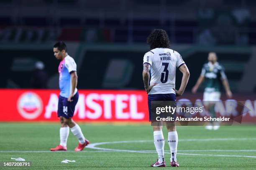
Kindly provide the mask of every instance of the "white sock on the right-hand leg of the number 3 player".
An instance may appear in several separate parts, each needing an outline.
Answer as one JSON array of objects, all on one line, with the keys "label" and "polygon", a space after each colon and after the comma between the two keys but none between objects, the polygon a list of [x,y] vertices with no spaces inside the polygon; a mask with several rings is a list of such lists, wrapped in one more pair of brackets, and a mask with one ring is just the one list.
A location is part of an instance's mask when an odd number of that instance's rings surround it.
[{"label": "white sock on the right-hand leg of the number 3 player", "polygon": [[176,154],[177,154],[177,146],[178,146],[178,134],[177,131],[169,132],[168,133],[168,144],[171,151],[171,162],[177,161]]}]

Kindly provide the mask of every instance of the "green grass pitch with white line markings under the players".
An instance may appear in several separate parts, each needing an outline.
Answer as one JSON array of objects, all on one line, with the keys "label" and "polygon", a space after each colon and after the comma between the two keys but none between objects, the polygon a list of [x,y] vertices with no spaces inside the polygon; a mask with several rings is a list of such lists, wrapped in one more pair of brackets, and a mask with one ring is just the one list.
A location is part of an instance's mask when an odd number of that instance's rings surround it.
[{"label": "green grass pitch with white line markings under the players", "polygon": [[[24,158],[31,163],[28,169],[51,170],[143,170],[157,158],[150,124],[85,124],[79,123],[85,137],[97,149],[85,148],[74,152],[78,140],[70,132],[68,152],[50,152],[59,144],[58,123],[0,123],[0,162]],[[167,131],[164,127],[164,137]],[[222,126],[209,131],[202,126],[178,126],[177,160],[179,169],[255,169],[256,126]],[[141,140],[144,140],[142,142]],[[114,141],[128,141],[116,142]],[[131,142],[135,141],[135,142]],[[99,149],[99,148],[105,148]],[[166,168],[169,165],[169,145],[165,143]],[[62,160],[75,163],[61,163]],[[0,167],[0,169],[27,169]]]}]

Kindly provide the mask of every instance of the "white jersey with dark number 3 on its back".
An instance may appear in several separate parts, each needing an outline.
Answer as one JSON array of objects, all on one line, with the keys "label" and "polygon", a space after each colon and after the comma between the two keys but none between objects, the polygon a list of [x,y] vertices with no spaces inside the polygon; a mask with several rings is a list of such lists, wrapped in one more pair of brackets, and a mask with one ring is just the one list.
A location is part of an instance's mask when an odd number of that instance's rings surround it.
[{"label": "white jersey with dark number 3 on its back", "polygon": [[143,64],[151,65],[149,85],[155,85],[148,93],[169,94],[175,91],[176,67],[184,65],[181,55],[169,48],[155,48],[144,55]]}]

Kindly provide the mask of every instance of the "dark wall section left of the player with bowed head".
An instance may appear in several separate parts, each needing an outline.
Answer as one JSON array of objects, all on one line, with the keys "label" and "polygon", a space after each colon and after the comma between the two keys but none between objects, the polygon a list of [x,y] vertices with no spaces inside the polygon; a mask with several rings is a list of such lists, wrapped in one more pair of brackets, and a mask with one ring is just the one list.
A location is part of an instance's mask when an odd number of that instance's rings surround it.
[{"label": "dark wall section left of the player with bowed head", "polygon": [[[1,49],[1,67],[3,69],[0,87],[5,88],[9,84],[17,85],[20,88],[31,88],[31,77],[33,75],[34,64],[40,60],[44,62],[45,71],[48,75],[58,72],[58,61],[49,50],[14,50]],[[57,82],[58,83],[58,82]]]}]

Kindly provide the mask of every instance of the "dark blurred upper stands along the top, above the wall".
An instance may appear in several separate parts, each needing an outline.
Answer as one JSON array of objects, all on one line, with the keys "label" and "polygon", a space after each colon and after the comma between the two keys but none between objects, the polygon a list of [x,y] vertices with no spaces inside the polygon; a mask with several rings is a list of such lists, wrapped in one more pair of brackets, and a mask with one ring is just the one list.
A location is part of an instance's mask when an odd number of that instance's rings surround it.
[{"label": "dark blurred upper stands along the top, above the wall", "polygon": [[145,42],[153,28],[175,44],[256,43],[254,0],[1,0],[0,42]]}]

